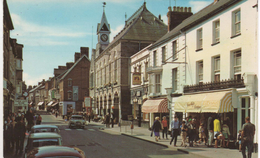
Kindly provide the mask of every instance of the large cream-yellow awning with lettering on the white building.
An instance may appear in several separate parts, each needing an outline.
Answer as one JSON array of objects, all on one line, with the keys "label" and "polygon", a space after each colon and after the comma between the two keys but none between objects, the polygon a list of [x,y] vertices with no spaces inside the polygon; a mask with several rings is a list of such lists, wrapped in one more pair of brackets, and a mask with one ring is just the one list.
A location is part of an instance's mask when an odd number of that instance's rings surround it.
[{"label": "large cream-yellow awning with lettering on the white building", "polygon": [[224,113],[233,112],[232,92],[213,92],[179,97],[174,104],[175,112]]}]

